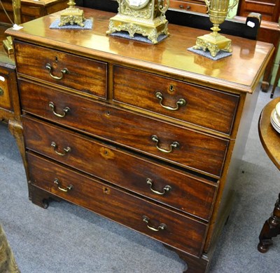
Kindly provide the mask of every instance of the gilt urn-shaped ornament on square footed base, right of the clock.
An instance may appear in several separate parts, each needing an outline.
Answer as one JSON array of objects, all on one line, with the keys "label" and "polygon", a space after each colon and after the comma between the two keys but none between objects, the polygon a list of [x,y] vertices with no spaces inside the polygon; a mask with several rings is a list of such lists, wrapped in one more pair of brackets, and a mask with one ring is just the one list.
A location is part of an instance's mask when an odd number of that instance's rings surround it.
[{"label": "gilt urn-shaped ornament on square footed base, right of the clock", "polygon": [[208,7],[210,21],[213,23],[213,27],[211,27],[213,32],[197,37],[193,48],[203,51],[208,49],[212,57],[215,57],[219,51],[232,52],[232,41],[218,32],[221,30],[219,25],[225,21],[228,11],[237,4],[237,0],[232,6],[229,6],[229,0],[205,0],[205,3]]}]

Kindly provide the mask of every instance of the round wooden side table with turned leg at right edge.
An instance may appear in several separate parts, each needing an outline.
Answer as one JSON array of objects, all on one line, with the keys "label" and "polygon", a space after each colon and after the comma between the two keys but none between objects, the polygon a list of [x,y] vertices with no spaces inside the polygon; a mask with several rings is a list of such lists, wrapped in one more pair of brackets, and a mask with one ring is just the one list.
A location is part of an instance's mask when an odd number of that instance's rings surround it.
[{"label": "round wooden side table with turned leg at right edge", "polygon": [[[278,133],[270,123],[270,115],[276,104],[280,102],[280,98],[275,98],[262,109],[260,120],[258,122],[258,133],[260,142],[265,149],[269,159],[274,163],[280,171],[280,133]],[[265,253],[269,246],[272,245],[272,237],[280,234],[280,193],[279,198],[274,206],[274,211],[269,219],[265,221],[260,232],[260,243],[258,251]]]}]

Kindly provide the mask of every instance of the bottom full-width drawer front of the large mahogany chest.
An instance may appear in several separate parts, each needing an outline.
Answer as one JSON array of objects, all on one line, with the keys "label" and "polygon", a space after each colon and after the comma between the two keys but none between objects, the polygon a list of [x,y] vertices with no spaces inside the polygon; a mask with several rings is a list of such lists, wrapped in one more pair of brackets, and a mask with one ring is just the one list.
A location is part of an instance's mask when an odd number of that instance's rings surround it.
[{"label": "bottom full-width drawer front of the large mahogany chest", "polygon": [[[122,225],[199,256],[207,225],[27,153],[31,183]],[[58,184],[57,184],[58,183]],[[69,190],[67,187],[72,188]],[[60,187],[60,189],[58,188]],[[62,190],[67,190],[64,192]],[[144,222],[148,221],[148,224]],[[149,220],[148,220],[149,218]],[[148,226],[162,227],[158,232]]]}]

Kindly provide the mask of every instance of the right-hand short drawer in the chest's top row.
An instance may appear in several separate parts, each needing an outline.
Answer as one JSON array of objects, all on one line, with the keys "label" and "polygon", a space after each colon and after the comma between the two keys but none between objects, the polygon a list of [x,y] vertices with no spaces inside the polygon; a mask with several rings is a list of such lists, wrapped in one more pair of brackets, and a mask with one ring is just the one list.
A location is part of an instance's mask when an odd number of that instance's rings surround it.
[{"label": "right-hand short drawer in the chest's top row", "polygon": [[119,66],[114,67],[113,75],[113,100],[117,102],[227,135],[232,131],[237,95]]}]

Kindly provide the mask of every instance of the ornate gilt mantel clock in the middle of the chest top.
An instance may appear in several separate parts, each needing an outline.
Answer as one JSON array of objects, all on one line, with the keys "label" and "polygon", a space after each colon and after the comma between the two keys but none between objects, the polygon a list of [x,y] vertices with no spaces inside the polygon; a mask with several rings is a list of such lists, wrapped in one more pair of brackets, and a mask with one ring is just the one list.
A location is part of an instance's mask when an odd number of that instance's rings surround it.
[{"label": "ornate gilt mantel clock in the middle of the chest top", "polygon": [[118,14],[110,19],[107,34],[128,32],[146,36],[153,44],[161,34],[168,35],[165,12],[169,0],[118,0]]}]

